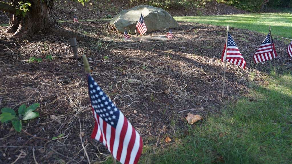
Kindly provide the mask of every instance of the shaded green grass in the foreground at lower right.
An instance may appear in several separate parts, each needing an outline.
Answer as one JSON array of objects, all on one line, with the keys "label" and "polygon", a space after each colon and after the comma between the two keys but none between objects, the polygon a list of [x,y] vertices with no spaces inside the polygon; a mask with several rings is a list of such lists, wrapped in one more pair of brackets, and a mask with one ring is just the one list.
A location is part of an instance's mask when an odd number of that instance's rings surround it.
[{"label": "shaded green grass in the foreground at lower right", "polygon": [[170,147],[146,145],[140,163],[291,163],[292,75],[266,80],[221,114],[186,124]]}]

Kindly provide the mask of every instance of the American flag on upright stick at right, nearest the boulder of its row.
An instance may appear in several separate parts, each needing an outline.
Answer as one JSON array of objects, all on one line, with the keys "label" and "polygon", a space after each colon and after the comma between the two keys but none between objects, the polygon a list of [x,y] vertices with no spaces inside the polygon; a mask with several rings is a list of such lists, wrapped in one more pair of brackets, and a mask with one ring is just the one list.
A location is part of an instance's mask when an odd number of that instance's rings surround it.
[{"label": "American flag on upright stick at right, nearest the boulder of its row", "polygon": [[227,53],[225,54],[225,49],[226,49],[226,43],[224,46],[223,54],[221,56],[221,61],[225,62],[225,57],[226,57],[226,62],[233,63],[241,68],[245,68],[246,62],[241,55],[236,43],[232,39],[232,36],[228,32],[228,41],[227,41]]}]

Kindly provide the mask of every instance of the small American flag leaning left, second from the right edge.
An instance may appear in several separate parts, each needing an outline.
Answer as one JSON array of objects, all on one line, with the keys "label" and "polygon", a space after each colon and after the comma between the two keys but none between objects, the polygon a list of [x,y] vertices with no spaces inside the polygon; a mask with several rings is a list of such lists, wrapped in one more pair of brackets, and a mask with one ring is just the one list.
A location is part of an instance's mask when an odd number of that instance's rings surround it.
[{"label": "small American flag leaning left, second from the right edge", "polygon": [[[272,51],[273,50],[273,51]],[[274,55],[273,55],[274,52]],[[277,57],[274,42],[270,39],[270,33],[266,36],[263,43],[260,45],[256,53],[253,55],[255,63],[272,60]]]}]

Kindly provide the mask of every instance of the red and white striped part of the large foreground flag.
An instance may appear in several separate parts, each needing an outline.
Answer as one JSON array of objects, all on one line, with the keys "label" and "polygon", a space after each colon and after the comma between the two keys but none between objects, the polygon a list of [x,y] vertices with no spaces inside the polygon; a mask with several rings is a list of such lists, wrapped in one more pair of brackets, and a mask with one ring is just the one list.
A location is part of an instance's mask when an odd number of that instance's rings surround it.
[{"label": "red and white striped part of the large foreground flag", "polygon": [[142,153],[142,137],[119,111],[117,127],[114,128],[93,110],[95,126],[91,138],[99,140],[122,164],[136,164]]}]

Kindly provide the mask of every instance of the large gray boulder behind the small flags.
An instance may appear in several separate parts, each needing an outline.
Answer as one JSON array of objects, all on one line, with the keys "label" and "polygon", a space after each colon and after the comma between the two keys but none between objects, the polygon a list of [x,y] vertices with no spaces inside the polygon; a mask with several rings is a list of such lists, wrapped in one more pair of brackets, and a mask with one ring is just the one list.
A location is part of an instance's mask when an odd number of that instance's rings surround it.
[{"label": "large gray boulder behind the small flags", "polygon": [[167,11],[162,8],[147,5],[122,10],[109,23],[114,25],[118,32],[124,33],[125,28],[127,31],[131,30],[131,32],[135,32],[135,26],[141,16],[141,11],[143,12],[144,22],[148,29],[147,32],[178,27],[178,22]]}]

